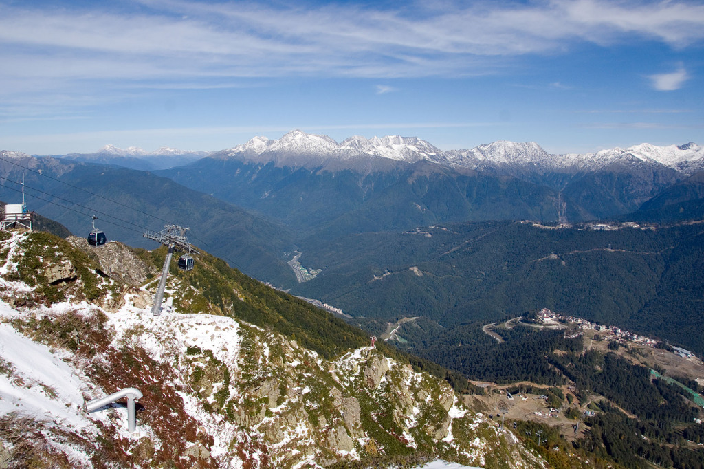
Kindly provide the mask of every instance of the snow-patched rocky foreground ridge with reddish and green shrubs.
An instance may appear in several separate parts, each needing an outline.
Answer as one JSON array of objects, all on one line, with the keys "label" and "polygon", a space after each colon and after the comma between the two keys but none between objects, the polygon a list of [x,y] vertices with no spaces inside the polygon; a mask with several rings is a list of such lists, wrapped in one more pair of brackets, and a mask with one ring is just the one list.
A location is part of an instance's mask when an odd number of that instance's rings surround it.
[{"label": "snow-patched rocky foreground ridge with reddish and green shrubs", "polygon": [[[37,369],[61,370],[38,374],[0,347],[0,414],[10,429],[0,440],[19,465],[325,467],[414,454],[544,465],[468,411],[446,382],[377,349],[322,358],[266,328],[206,313],[213,308],[186,301],[193,287],[181,275],[170,277],[168,307],[153,316],[145,298],[156,279],[139,265],[149,264],[144,256],[127,261],[127,246],[0,235],[0,332],[6,343],[34,344],[32,363],[46,363]],[[119,270],[116,258],[134,269]],[[123,406],[82,407],[125,387],[144,394],[132,434]],[[31,435],[23,445],[13,439],[20,431]]]}]

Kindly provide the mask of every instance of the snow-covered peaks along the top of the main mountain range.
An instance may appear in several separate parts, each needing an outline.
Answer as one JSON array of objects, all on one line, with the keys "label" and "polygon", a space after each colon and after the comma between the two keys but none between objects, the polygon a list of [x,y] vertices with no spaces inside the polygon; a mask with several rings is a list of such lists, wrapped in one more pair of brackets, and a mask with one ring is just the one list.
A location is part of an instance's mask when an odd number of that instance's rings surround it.
[{"label": "snow-covered peaks along the top of the main mountain range", "polygon": [[451,168],[525,167],[532,170],[599,170],[617,161],[632,161],[662,165],[684,173],[704,169],[704,149],[693,142],[686,145],[655,146],[641,144],[628,149],[608,149],[593,154],[548,154],[534,142],[499,141],[473,149],[443,151],[417,137],[350,137],[341,143],[325,135],[310,135],[293,130],[280,139],[254,137],[246,144],[213,154],[214,158],[239,158],[246,161],[292,164],[295,166],[329,165],[338,167],[346,161],[353,168],[354,161],[379,157],[393,161],[417,163],[432,161]]}]

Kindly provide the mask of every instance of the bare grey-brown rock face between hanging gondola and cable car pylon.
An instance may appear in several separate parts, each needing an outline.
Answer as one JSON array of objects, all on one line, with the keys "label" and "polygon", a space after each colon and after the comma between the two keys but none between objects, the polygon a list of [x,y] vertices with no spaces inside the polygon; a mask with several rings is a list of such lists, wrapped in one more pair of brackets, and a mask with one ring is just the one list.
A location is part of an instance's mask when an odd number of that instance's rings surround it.
[{"label": "bare grey-brown rock face between hanging gondola and cable car pylon", "polygon": [[149,275],[156,273],[142,259],[135,256],[129,247],[120,242],[91,246],[85,238],[70,236],[66,240],[89,256],[97,257],[101,270],[111,278],[132,287],[139,287],[146,282]]}]

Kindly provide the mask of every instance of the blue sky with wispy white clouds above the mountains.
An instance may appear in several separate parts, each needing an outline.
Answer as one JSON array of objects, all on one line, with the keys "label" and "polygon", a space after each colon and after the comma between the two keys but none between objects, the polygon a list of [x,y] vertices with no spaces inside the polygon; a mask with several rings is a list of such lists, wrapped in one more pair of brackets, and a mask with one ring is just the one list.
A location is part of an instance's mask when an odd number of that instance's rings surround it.
[{"label": "blue sky with wispy white clouds above the mountains", "polygon": [[696,1],[2,1],[0,149],[704,144]]}]

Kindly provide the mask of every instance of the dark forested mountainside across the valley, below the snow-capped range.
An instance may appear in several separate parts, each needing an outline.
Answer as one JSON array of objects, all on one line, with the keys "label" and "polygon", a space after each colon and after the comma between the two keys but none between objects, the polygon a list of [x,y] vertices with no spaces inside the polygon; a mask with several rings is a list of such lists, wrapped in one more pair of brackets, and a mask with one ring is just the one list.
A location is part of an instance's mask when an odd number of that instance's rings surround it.
[{"label": "dark forested mountainside across the valley, below the snow-capped range", "polygon": [[316,242],[300,261],[322,272],[293,292],[444,326],[551,308],[704,351],[693,333],[704,326],[704,225],[594,227],[457,224]]}]

